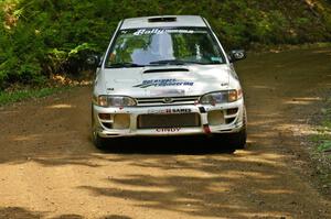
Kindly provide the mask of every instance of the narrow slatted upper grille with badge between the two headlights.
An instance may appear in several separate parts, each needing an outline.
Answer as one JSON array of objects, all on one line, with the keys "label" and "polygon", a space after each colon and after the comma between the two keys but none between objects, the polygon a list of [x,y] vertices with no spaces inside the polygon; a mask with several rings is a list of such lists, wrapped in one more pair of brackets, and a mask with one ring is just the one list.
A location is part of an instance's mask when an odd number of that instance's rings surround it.
[{"label": "narrow slatted upper grille with badge between the two headlights", "polygon": [[156,97],[156,98],[137,98],[138,106],[171,106],[171,105],[194,105],[199,96],[191,97]]}]

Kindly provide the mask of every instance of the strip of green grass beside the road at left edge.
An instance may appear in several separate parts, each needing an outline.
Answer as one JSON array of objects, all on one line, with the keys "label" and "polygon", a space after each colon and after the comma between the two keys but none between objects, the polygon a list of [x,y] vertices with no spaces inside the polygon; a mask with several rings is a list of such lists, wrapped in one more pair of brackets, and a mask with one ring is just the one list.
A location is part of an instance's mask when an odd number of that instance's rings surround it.
[{"label": "strip of green grass beside the road at left edge", "polygon": [[10,105],[33,98],[42,98],[72,89],[72,86],[22,88],[13,91],[0,91],[0,106]]}]

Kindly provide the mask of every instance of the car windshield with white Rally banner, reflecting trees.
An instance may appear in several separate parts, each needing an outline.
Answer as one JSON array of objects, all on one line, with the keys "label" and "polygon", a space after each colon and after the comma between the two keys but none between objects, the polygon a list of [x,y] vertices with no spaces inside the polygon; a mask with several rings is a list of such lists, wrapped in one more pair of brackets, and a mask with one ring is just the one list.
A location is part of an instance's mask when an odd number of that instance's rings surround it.
[{"label": "car windshield with white Rally banner, reflecting trees", "polygon": [[224,63],[206,28],[121,30],[106,58],[110,68]]}]

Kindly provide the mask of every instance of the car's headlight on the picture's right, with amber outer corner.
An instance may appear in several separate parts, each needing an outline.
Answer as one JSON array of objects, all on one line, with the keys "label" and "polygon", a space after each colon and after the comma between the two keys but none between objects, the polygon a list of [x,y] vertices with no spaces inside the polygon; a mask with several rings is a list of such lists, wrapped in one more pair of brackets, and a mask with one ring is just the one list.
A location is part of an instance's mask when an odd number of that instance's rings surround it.
[{"label": "car's headlight on the picture's right, with amber outer corner", "polygon": [[202,105],[217,105],[224,102],[234,102],[243,97],[242,89],[238,90],[224,90],[218,92],[211,92],[200,98]]}]

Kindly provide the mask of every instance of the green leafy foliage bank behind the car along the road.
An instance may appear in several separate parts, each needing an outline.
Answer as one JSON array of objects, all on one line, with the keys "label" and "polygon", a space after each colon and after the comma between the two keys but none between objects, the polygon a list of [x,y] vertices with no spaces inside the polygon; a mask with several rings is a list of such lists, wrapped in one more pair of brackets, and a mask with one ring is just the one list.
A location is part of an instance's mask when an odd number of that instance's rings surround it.
[{"label": "green leafy foliage bank behind the car along the road", "polygon": [[[321,1],[322,2],[322,1]],[[156,14],[200,14],[225,47],[330,41],[330,3],[288,0],[2,0],[0,90],[78,74],[87,54],[103,53],[118,21]]]}]

